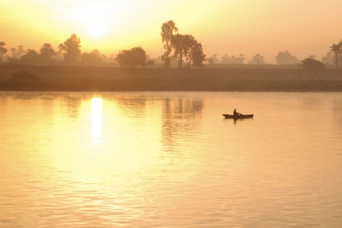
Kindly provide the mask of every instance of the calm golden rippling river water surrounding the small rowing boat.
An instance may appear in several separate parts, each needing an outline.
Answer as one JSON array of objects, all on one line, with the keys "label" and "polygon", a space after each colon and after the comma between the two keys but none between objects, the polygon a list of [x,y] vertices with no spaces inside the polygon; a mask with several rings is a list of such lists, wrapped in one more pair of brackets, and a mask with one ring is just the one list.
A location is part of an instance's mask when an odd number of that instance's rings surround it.
[{"label": "calm golden rippling river water surrounding the small rowing boat", "polygon": [[0,125],[0,227],[342,226],[342,93],[0,92]]}]

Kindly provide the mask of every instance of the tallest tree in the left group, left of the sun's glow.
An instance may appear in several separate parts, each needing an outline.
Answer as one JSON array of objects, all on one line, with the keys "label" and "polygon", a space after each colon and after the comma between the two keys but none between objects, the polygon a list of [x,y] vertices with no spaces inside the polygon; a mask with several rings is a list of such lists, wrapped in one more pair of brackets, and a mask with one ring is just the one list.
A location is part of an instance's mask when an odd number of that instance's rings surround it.
[{"label": "tallest tree in the left group, left of the sun's glow", "polygon": [[63,50],[64,60],[69,64],[75,64],[80,61],[81,46],[80,38],[76,34],[72,34],[64,43],[61,43],[58,48]]}]

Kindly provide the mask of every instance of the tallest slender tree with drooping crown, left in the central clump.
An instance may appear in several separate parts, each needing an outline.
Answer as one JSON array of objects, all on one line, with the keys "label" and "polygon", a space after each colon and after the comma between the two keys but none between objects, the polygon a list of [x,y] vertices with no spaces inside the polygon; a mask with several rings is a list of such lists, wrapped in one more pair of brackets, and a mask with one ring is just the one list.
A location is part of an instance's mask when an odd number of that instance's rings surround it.
[{"label": "tallest slender tree with drooping crown, left in the central clump", "polygon": [[164,43],[163,48],[165,49],[164,55],[162,55],[162,61],[164,62],[164,66],[166,68],[170,67],[170,53],[172,51],[171,39],[173,38],[174,33],[177,33],[178,28],[173,21],[167,21],[162,24],[162,31],[160,35],[162,36],[162,43]]}]

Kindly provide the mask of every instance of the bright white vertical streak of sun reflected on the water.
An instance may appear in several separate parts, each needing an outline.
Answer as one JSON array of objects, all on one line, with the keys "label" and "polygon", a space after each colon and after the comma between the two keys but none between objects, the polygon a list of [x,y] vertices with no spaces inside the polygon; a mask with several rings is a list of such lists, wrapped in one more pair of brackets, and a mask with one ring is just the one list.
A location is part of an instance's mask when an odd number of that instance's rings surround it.
[{"label": "bright white vertical streak of sun reflected on the water", "polygon": [[102,138],[103,109],[102,98],[95,96],[91,99],[91,135],[93,145],[98,145]]}]

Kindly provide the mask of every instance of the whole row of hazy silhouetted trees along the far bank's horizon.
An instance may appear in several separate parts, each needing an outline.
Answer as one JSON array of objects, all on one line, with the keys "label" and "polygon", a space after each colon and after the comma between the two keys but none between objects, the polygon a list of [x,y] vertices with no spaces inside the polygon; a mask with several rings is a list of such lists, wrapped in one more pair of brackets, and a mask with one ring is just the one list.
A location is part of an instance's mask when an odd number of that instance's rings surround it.
[{"label": "whole row of hazy silhouetted trees along the far bank's horizon", "polygon": [[[204,62],[209,65],[222,63],[222,64],[244,64],[244,55],[239,56],[224,56],[219,58],[216,54],[205,58],[203,53],[202,43],[199,43],[197,39],[189,34],[178,33],[178,28],[175,22],[170,20],[162,24],[161,26],[161,40],[164,53],[160,56],[159,60],[162,66],[169,68],[171,63],[175,63],[178,68],[202,68]],[[7,59],[9,63],[28,63],[36,64],[43,63],[49,64],[53,62],[53,58],[61,56],[63,61],[68,65],[100,65],[103,61],[113,62],[119,64],[121,67],[145,67],[150,66],[158,61],[158,59],[148,60],[145,50],[141,46],[133,47],[129,50],[119,51],[116,56],[107,57],[100,53],[97,49],[90,51],[89,53],[81,53],[81,39],[72,34],[66,41],[60,43],[58,51],[53,49],[51,43],[43,43],[39,51],[33,49],[27,49],[24,51],[24,46],[19,45],[18,48],[11,48],[11,56]],[[6,43],[0,42],[0,62],[4,62],[4,55],[9,50],[6,48]],[[316,56],[309,56],[304,61],[299,61],[296,56],[291,55],[289,51],[279,51],[276,58],[276,64],[297,64],[304,68],[314,66],[314,68],[323,68],[324,64],[334,64],[338,68],[338,62],[342,61],[342,40],[338,43],[333,43],[326,56],[321,61],[318,61]],[[309,59],[309,60],[308,60]],[[257,53],[252,56],[248,62],[249,64],[262,65],[265,63],[264,56]],[[341,65],[342,68],[342,65]]]}]

